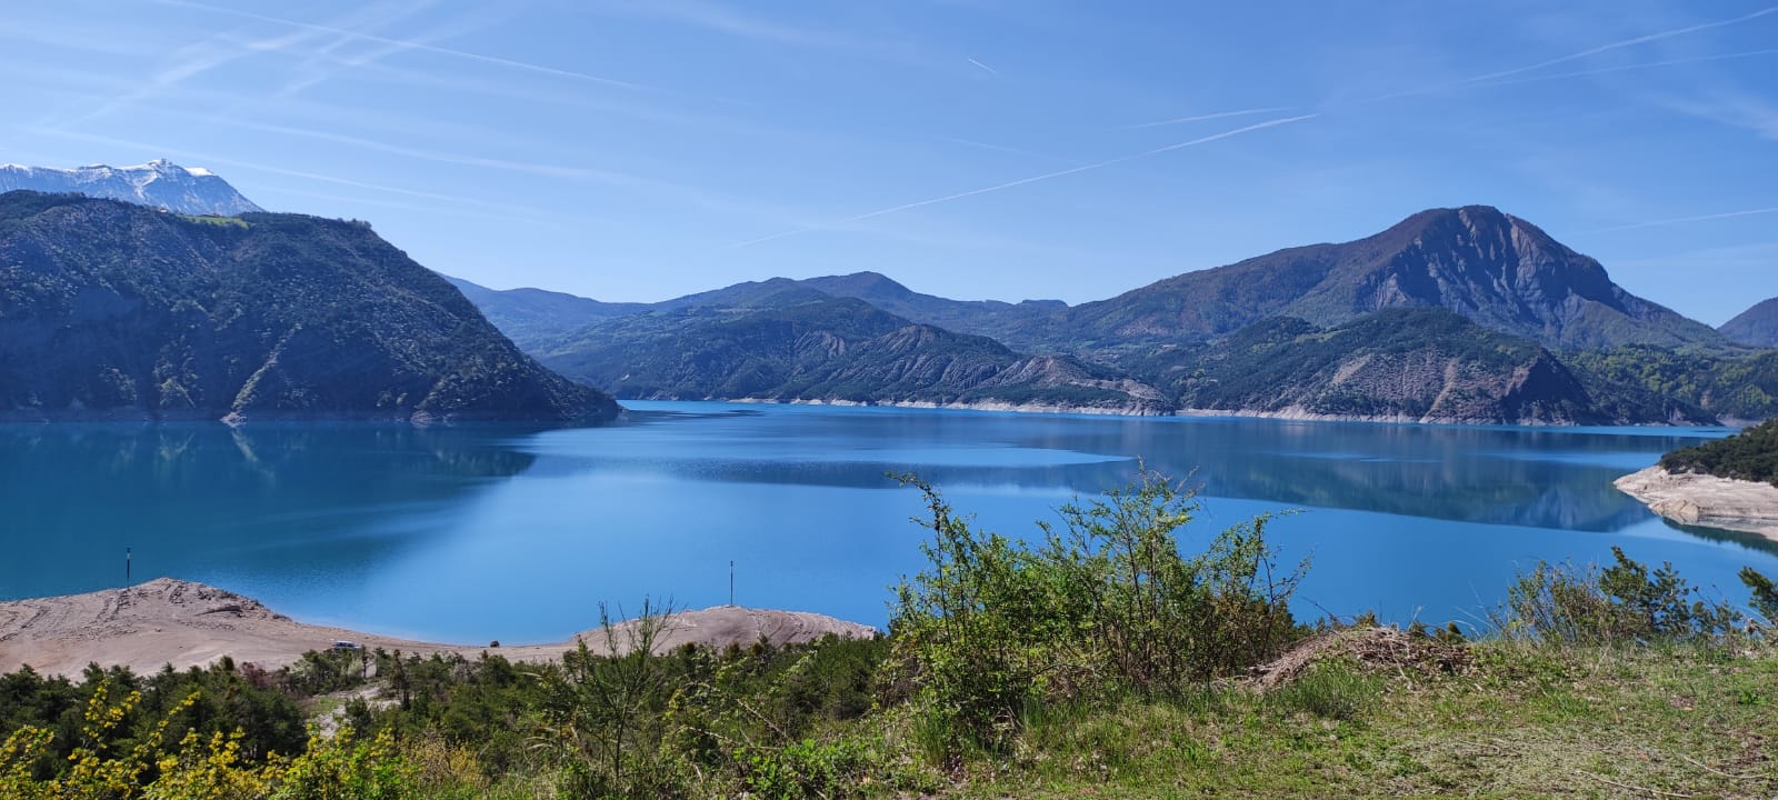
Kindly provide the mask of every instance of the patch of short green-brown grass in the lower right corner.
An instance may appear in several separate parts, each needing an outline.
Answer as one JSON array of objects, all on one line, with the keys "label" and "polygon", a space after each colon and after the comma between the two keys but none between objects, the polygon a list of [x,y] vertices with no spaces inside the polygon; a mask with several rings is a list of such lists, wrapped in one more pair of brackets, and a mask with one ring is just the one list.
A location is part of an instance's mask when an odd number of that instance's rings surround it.
[{"label": "patch of short green-brown grass in the lower right corner", "polygon": [[1478,644],[1463,676],[1323,661],[1269,692],[1035,718],[955,796],[1778,796],[1778,656]]}]

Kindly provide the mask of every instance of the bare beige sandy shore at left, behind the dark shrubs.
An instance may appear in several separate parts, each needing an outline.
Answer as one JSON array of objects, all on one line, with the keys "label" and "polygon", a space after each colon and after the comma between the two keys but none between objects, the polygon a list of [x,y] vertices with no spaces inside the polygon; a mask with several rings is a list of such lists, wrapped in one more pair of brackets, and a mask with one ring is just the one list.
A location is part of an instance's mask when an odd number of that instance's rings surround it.
[{"label": "bare beige sandy shore at left, behind the dark shrubs", "polygon": [[[596,620],[590,620],[596,622]],[[807,612],[775,612],[715,606],[679,612],[656,640],[656,651],[683,644],[722,647],[809,642],[829,633],[871,636],[873,628]],[[345,628],[311,626],[277,613],[252,597],[217,587],[158,578],[130,588],[36,597],[0,603],[0,674],[30,665],[43,674],[78,676],[89,663],[123,665],[153,672],[164,665],[187,668],[222,656],[236,663],[277,668],[308,651],[325,651],[334,642],[402,652],[498,652],[514,661],[551,661],[585,638],[594,651],[605,647],[597,628],[567,642],[489,649],[482,645],[414,642],[377,636]],[[624,642],[619,631],[619,642]]]}]

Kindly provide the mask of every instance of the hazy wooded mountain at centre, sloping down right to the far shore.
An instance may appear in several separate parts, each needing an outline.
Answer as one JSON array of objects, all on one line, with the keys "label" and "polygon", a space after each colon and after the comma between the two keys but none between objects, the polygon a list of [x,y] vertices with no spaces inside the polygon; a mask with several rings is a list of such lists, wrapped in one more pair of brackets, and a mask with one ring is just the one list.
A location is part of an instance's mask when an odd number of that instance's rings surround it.
[{"label": "hazy wooded mountain at centre, sloping down right to the far shore", "polygon": [[537,354],[626,398],[1170,411],[1156,389],[1120,373],[1024,357],[795,281],[750,284],[729,302],[606,320]]}]

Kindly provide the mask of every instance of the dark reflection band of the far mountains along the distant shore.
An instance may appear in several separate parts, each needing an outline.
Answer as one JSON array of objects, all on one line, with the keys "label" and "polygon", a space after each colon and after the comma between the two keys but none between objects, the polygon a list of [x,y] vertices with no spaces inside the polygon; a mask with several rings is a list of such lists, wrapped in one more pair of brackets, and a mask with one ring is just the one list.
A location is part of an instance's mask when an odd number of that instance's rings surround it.
[{"label": "dark reflection band of the far mountains along the distant shore", "polygon": [[[658,404],[672,405],[672,404]],[[1556,432],[1549,428],[1287,423],[1273,420],[1015,418],[868,409],[631,412],[661,427],[647,448],[585,448],[590,432],[539,443],[551,473],[640,468],[713,482],[880,489],[885,473],[939,485],[1069,487],[1129,480],[1134,460],[1191,476],[1209,496],[1268,500],[1463,523],[1613,532],[1648,519],[1611,482],[1659,453],[1719,430]],[[690,423],[690,425],[686,425]],[[656,448],[685,437],[686,448]],[[805,452],[784,443],[805,441]]]}]

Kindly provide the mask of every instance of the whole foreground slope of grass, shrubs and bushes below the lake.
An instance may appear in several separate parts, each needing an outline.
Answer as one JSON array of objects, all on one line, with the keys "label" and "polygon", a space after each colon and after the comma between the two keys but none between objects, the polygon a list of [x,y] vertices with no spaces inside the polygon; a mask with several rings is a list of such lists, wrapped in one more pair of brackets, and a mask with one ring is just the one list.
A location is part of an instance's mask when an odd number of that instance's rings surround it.
[{"label": "whole foreground slope of grass, shrubs and bushes below the lake", "polygon": [[1310,628],[1264,517],[1181,556],[1197,505],[1154,476],[1029,544],[923,489],[930,565],[885,638],[651,654],[645,606],[535,667],[27,670],[0,677],[0,796],[1778,793],[1778,592],[1751,571],[1753,617],[1618,551],[1533,567],[1481,640]]}]

